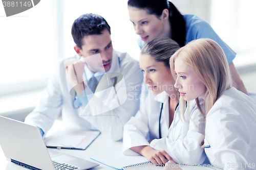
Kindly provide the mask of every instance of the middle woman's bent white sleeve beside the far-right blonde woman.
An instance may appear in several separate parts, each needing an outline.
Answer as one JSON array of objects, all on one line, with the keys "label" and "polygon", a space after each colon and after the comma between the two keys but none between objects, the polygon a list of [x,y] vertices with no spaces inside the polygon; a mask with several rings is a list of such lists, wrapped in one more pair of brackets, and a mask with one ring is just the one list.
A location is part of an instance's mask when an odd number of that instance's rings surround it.
[{"label": "middle woman's bent white sleeve beside the far-right blonde woman", "polygon": [[[205,118],[197,108],[191,111],[190,115],[195,124],[189,120],[187,133],[181,134],[177,140],[172,140],[172,136],[154,139],[150,144],[151,147],[155,150],[166,151],[176,163],[203,163],[205,154],[200,144],[204,139]],[[182,124],[184,124],[183,126],[187,126],[185,123]]]}]

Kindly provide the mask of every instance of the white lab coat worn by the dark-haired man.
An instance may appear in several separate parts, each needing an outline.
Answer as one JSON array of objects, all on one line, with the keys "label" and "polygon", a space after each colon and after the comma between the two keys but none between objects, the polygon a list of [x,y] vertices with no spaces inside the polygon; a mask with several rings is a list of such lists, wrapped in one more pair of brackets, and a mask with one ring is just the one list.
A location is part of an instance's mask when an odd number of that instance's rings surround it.
[{"label": "white lab coat worn by the dark-haired man", "polygon": [[[79,55],[74,58],[79,59]],[[99,130],[108,134],[112,140],[120,140],[123,133],[123,125],[135,115],[139,109],[139,100],[136,95],[140,94],[140,87],[143,81],[143,74],[139,68],[139,62],[131,58],[127,53],[120,53],[113,50],[112,64],[108,72],[118,72],[123,75],[126,85],[127,100],[119,107],[93,116],[91,112],[82,117],[82,109],[75,102],[75,96],[70,95],[70,86],[66,79],[65,63],[68,59],[62,60],[49,85],[45,89],[45,96],[39,105],[25,119],[25,123],[41,128],[45,134],[51,128],[54,120],[62,113],[62,120],[65,125],[84,130]],[[100,82],[99,82],[100,83]],[[136,87],[136,88],[135,88]],[[116,88],[117,93],[123,90]],[[96,89],[97,90],[97,89]],[[100,108],[98,104],[94,107]]]}]

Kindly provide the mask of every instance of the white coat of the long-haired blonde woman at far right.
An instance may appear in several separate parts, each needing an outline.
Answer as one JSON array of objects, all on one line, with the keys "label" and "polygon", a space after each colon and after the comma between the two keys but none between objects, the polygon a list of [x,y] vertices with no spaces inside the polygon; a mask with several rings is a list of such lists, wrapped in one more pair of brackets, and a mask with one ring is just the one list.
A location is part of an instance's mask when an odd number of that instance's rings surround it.
[{"label": "white coat of the long-haired blonde woman at far right", "polygon": [[206,116],[204,145],[210,163],[224,169],[250,169],[250,164],[256,169],[255,130],[255,102],[234,87],[226,90]]}]

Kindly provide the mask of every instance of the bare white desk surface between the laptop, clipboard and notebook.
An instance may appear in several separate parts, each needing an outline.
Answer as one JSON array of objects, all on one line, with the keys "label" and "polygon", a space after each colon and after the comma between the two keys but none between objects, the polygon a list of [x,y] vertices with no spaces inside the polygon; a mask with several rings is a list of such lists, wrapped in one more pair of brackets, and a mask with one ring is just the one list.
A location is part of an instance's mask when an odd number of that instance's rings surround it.
[{"label": "bare white desk surface between the laptop, clipboard and notebook", "polygon": [[[51,150],[57,150],[57,149],[51,149]],[[96,155],[101,155],[101,154],[106,154],[106,153],[111,153],[111,152],[116,152],[116,151],[121,151],[121,150],[122,150],[122,142],[121,141],[113,142],[113,141],[111,141],[111,139],[108,136],[106,136],[104,134],[100,134],[91,143],[91,145],[89,145],[89,147],[84,151],[68,150],[68,149],[60,149],[57,151],[65,153],[65,154],[69,154],[72,156],[76,156],[76,157],[79,157],[79,158],[82,158],[85,160],[89,160],[92,162],[96,162],[96,161],[90,159],[90,157],[96,156]],[[1,164],[1,169],[5,169],[5,170],[13,170],[13,169],[24,170],[24,169],[26,169],[24,167],[18,166],[16,164],[6,160],[6,157],[5,157],[1,147],[0,147],[0,164]],[[96,170],[96,169],[111,169],[111,170],[113,170],[113,168],[103,165],[103,164],[100,164],[99,166],[92,168],[92,170]]]}]

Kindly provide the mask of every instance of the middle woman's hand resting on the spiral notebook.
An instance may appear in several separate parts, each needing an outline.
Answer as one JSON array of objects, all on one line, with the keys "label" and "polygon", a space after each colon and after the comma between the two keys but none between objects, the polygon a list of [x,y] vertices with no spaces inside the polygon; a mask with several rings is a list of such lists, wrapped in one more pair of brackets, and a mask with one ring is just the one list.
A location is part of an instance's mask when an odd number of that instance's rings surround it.
[{"label": "middle woman's hand resting on the spiral notebook", "polygon": [[167,160],[172,160],[173,158],[169,156],[164,150],[154,150],[150,146],[146,146],[141,150],[141,155],[146,157],[147,160],[150,160],[154,165],[165,164]]}]

